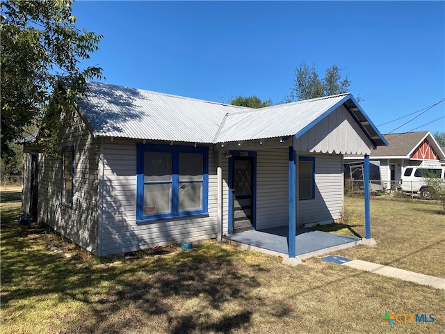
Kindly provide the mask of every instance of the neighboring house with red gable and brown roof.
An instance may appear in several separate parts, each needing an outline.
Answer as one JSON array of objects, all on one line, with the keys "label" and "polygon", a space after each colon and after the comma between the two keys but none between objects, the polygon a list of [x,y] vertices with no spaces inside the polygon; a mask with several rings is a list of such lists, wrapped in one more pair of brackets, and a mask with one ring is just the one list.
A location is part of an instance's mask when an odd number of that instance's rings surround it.
[{"label": "neighboring house with red gable and brown roof", "polygon": [[[387,189],[396,186],[405,166],[440,166],[445,154],[428,131],[384,134],[388,146],[371,152],[371,161],[380,161],[380,175]],[[346,154],[345,162],[362,161],[357,154]]]}]

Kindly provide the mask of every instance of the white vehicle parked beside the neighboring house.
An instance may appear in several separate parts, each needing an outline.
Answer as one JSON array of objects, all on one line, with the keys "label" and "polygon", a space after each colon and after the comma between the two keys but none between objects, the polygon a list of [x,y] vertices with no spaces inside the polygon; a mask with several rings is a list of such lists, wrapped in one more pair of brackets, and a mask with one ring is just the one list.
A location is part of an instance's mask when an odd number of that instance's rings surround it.
[{"label": "white vehicle parked beside the neighboring house", "polygon": [[403,169],[403,177],[399,183],[399,188],[402,191],[420,193],[421,198],[430,200],[432,198],[431,191],[425,185],[425,177],[428,175],[436,175],[443,179],[445,175],[445,167],[406,166]]}]

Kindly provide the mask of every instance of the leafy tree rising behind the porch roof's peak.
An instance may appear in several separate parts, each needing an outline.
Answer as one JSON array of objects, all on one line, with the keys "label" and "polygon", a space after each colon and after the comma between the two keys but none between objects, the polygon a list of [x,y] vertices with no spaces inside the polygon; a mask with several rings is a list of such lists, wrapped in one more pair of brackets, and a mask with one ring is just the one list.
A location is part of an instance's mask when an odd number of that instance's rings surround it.
[{"label": "leafy tree rising behind the porch roof's peak", "polygon": [[[289,95],[286,95],[283,102],[289,103],[347,93],[353,81],[348,79],[348,74],[342,77],[341,71],[337,65],[332,65],[332,67],[326,69],[325,77],[320,79],[315,64],[309,67],[309,65],[303,61],[295,69],[296,79],[293,81],[291,92]],[[357,101],[360,100],[361,99],[357,97]]]}]

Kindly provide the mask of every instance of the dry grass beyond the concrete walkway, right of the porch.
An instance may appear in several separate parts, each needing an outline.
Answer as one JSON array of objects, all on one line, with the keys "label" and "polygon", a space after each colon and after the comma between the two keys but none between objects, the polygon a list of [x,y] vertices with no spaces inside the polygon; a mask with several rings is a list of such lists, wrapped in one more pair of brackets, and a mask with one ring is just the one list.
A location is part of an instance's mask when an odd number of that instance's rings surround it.
[{"label": "dry grass beyond the concrete walkway, right of the porch", "polygon": [[[319,229],[364,237],[363,198],[345,198],[345,207],[353,210],[348,224]],[[359,246],[336,254],[445,278],[445,216],[437,202],[372,198],[371,233],[376,247]]]}]

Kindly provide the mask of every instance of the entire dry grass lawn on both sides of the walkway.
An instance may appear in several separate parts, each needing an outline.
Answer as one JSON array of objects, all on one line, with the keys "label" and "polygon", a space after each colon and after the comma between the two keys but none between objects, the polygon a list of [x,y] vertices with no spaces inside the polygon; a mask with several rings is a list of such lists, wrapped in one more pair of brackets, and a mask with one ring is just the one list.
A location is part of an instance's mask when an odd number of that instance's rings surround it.
[{"label": "entire dry grass lawn on both sides of the walkway", "polygon": [[[378,246],[335,254],[443,278],[439,205],[371,205]],[[361,206],[348,198],[348,224],[330,228],[362,234]],[[37,227],[1,228],[1,333],[445,333],[444,305],[443,290],[319,258],[288,267],[277,257],[205,241],[166,255],[97,259]],[[434,314],[436,321],[389,326],[385,312]]]}]

